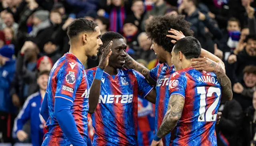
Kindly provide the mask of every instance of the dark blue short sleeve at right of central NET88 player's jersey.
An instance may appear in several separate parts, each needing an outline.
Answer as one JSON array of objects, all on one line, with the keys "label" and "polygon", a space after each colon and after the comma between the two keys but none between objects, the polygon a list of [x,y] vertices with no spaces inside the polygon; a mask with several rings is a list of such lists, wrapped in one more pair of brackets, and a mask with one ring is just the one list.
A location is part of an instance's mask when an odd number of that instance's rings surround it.
[{"label": "dark blue short sleeve at right of central NET88 player's jersey", "polygon": [[148,93],[150,93],[150,91],[153,89],[153,87],[148,83],[146,78],[138,71],[134,71],[134,74],[138,82],[138,95],[145,98],[148,95]]}]

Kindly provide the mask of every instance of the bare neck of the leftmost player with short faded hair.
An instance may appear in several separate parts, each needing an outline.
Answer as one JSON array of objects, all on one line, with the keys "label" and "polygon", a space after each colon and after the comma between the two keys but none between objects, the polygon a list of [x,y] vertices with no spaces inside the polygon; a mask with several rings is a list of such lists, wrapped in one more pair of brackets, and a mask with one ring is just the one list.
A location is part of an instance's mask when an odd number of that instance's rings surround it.
[{"label": "bare neck of the leftmost player with short faded hair", "polygon": [[78,60],[84,64],[88,57],[85,55],[85,52],[81,52],[81,50],[84,50],[82,46],[70,45],[69,53],[74,54]]}]

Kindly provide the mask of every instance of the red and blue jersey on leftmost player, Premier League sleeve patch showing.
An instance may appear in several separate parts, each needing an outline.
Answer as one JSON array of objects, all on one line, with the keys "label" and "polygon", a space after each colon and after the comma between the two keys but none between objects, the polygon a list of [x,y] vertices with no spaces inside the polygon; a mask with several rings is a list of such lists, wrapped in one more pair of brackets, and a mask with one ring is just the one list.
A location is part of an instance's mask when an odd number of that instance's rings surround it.
[{"label": "red and blue jersey on leftmost player, Premier League sleeve patch showing", "polygon": [[49,118],[46,122],[48,133],[45,134],[43,146],[67,146],[70,141],[62,132],[54,116],[54,99],[64,98],[73,103],[72,115],[78,132],[87,142],[88,81],[82,63],[72,53],[66,53],[53,66],[46,89]]}]

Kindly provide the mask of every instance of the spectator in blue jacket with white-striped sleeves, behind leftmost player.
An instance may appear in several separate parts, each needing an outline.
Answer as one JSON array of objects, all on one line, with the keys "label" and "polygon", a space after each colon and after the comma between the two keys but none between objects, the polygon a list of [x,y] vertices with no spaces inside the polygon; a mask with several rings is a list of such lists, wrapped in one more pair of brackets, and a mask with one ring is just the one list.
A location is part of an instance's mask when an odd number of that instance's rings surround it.
[{"label": "spectator in blue jacket with white-striped sleeves, behind leftmost player", "polygon": [[47,70],[38,73],[37,84],[40,89],[26,99],[22,110],[20,110],[20,113],[15,119],[13,131],[20,142],[28,138],[28,134],[22,130],[22,127],[28,120],[30,120],[30,136],[33,146],[40,146],[43,142],[44,134],[47,131],[44,128],[46,122],[40,114],[40,108],[46,93],[49,74],[50,71]]}]

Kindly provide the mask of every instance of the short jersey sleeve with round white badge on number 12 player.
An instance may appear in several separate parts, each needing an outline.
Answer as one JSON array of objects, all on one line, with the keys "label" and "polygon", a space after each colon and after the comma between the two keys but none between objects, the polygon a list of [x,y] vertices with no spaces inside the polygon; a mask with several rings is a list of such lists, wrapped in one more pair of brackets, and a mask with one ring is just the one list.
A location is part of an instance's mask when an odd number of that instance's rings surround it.
[{"label": "short jersey sleeve with round white badge on number 12 player", "polygon": [[173,73],[169,79],[169,93],[172,95],[181,95],[185,98],[187,77],[185,73]]}]

